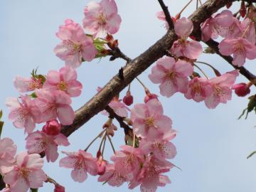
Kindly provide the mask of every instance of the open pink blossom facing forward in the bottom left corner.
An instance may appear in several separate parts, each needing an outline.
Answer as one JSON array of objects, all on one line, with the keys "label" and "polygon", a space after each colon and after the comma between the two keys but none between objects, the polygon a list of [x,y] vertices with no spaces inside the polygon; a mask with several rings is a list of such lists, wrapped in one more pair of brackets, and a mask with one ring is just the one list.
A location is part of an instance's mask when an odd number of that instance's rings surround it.
[{"label": "open pink blossom facing forward in the bottom left corner", "polygon": [[39,188],[46,181],[42,170],[43,159],[39,154],[22,152],[16,156],[16,164],[4,176],[4,182],[10,185],[12,192],[26,192],[29,188]]}]

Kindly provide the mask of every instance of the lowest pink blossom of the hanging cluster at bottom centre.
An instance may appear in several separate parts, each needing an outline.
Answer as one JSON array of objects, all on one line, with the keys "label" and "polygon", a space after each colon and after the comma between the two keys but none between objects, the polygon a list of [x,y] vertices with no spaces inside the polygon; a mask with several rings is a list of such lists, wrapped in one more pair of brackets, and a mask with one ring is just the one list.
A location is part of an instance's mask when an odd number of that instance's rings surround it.
[{"label": "lowest pink blossom of the hanging cluster at bottom centre", "polygon": [[158,186],[165,186],[167,183],[171,183],[169,177],[162,174],[170,171],[173,166],[165,159],[156,159],[154,156],[148,156],[137,178],[134,178],[129,183],[129,188],[133,189],[140,184],[142,192],[155,192]]}]

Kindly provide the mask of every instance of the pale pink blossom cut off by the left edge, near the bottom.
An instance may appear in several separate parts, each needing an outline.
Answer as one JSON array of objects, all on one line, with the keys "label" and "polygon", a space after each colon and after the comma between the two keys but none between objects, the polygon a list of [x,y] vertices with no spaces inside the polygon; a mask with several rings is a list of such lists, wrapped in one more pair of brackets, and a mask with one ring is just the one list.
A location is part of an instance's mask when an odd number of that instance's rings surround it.
[{"label": "pale pink blossom cut off by the left edge, near the bottom", "polygon": [[17,146],[10,138],[0,139],[0,174],[6,174],[13,169],[14,155]]}]

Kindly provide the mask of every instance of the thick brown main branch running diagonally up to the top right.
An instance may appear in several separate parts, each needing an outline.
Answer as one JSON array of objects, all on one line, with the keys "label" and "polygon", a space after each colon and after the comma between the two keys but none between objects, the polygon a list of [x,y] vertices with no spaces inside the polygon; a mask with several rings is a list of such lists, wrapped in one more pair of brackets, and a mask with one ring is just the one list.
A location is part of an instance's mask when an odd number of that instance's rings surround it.
[{"label": "thick brown main branch running diagonally up to the top right", "polygon": [[[233,0],[208,0],[205,4],[200,6],[189,18],[193,21],[193,26],[195,31],[200,33],[200,25],[203,21],[206,21],[213,13],[218,11],[221,7],[225,6],[228,2]],[[255,1],[255,0],[254,0]],[[174,32],[174,28],[170,28],[166,35],[157,41],[153,46],[151,46],[144,53],[139,55],[134,60],[131,60],[123,68],[124,79],[121,80],[118,75],[115,75],[112,80],[107,82],[107,84],[98,92],[91,100],[89,100],[85,105],[80,107],[75,112],[75,119],[73,124],[64,126],[62,133],[65,136],[69,136],[77,129],[79,129],[83,124],[89,121],[95,114],[102,111],[107,107],[108,103],[112,98],[121,92],[124,87],[129,85],[134,78],[141,74],[144,70],[149,68],[149,66],[156,60],[161,58],[166,54],[166,50],[169,50],[176,41],[177,36]]]}]

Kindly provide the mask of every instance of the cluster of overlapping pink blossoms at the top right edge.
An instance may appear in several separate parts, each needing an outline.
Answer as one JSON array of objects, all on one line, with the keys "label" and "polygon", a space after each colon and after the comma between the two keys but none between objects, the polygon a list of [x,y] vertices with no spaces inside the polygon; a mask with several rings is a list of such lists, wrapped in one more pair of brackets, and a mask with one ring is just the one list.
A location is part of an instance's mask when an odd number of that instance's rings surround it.
[{"label": "cluster of overlapping pink blossoms at the top right edge", "polygon": [[218,46],[222,55],[233,54],[233,65],[244,65],[245,58],[256,58],[255,22],[250,17],[238,21],[232,12],[224,10],[220,14],[208,18],[201,25],[202,39],[222,37]]}]

